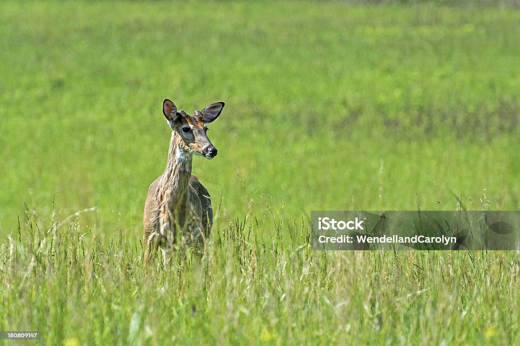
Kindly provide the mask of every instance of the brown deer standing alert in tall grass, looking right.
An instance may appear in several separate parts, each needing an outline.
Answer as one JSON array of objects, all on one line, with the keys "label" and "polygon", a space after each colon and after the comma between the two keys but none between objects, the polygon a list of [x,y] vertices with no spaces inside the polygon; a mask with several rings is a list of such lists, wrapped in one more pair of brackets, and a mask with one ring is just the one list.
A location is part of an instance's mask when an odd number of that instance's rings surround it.
[{"label": "brown deer standing alert in tall grass, looking right", "polygon": [[209,160],[217,155],[207,137],[206,124],[218,118],[224,105],[224,102],[212,103],[190,116],[184,109],[177,112],[171,100],[163,101],[163,114],[172,137],[164,172],[150,185],[146,196],[142,220],[145,269],[159,247],[165,267],[176,247],[193,246],[202,254],[213,226],[213,210],[210,193],[191,174],[191,163],[193,155]]}]

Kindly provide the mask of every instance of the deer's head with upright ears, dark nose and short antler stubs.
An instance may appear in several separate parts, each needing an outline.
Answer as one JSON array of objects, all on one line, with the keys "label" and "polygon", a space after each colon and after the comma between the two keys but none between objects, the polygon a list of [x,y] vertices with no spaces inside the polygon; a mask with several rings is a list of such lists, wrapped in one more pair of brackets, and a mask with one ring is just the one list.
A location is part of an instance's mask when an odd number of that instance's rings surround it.
[{"label": "deer's head with upright ears, dark nose and short antler stubs", "polygon": [[191,154],[213,159],[217,156],[217,148],[211,144],[207,137],[207,123],[214,121],[222,112],[224,102],[216,102],[202,110],[196,110],[192,116],[183,109],[177,112],[175,104],[165,99],[163,101],[163,114],[168,124],[181,138],[179,146]]}]

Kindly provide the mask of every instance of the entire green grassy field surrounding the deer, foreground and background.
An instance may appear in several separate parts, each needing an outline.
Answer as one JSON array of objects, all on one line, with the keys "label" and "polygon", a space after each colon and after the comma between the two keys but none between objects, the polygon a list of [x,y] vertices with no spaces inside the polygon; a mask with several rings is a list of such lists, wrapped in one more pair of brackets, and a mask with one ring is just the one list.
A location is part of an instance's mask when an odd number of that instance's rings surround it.
[{"label": "entire green grassy field surrounding the deer, foreground and background", "polygon": [[[517,252],[317,252],[311,210],[518,210],[520,11],[0,3],[0,330],[46,344],[518,344]],[[202,260],[142,267],[172,99]],[[11,344],[10,341],[5,344]]]}]

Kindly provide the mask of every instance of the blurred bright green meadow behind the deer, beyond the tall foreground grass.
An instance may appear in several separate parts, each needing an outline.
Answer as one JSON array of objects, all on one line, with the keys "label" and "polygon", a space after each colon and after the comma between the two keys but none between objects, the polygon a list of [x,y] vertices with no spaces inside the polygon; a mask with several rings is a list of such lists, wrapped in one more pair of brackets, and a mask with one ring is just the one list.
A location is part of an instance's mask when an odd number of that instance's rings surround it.
[{"label": "blurred bright green meadow behind the deer, beyond the tall foreground grass", "polygon": [[164,98],[226,102],[193,163],[225,218],[518,209],[516,2],[382,3],[2,2],[0,231],[55,199],[139,236]]}]

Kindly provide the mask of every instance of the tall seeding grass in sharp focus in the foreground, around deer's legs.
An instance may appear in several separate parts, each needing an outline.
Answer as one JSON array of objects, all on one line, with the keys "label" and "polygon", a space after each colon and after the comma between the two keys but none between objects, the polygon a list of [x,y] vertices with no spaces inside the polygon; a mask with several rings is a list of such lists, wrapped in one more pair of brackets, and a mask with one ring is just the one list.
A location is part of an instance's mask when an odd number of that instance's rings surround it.
[{"label": "tall seeding grass in sharp focus in the foreground, around deer's legs", "polygon": [[[202,260],[28,211],[0,248],[2,327],[46,344],[516,344],[520,257],[318,252],[300,222],[219,224]],[[159,261],[157,261],[159,263]]]}]

